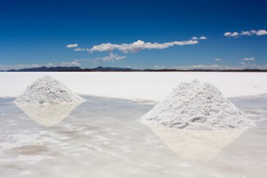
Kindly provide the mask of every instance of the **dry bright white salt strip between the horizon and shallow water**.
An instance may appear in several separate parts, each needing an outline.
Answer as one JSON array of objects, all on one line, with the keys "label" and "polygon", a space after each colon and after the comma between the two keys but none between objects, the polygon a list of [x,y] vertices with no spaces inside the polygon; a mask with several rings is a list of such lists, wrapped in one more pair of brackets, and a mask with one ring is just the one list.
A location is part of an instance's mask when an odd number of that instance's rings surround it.
[{"label": "dry bright white salt strip between the horizon and shallow water", "polygon": [[181,82],[201,80],[224,96],[267,94],[266,72],[0,72],[0,97],[16,97],[44,75],[77,94],[162,101]]}]

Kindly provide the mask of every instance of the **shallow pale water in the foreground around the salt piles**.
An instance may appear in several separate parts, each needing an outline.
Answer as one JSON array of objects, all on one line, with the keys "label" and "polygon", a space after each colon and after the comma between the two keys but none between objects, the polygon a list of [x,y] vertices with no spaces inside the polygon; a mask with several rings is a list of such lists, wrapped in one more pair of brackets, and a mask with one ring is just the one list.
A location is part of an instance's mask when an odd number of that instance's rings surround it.
[{"label": "shallow pale water in the foreground around the salt piles", "polygon": [[256,128],[178,135],[138,122],[151,105],[84,98],[54,126],[32,120],[14,98],[0,98],[0,177],[266,176],[266,95],[230,98]]}]

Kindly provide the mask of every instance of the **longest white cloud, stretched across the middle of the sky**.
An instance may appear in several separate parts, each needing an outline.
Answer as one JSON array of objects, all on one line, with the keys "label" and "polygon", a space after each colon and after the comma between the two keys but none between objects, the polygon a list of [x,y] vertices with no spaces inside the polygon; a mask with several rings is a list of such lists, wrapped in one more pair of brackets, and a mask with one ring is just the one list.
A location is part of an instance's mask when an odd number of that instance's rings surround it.
[{"label": "longest white cloud, stretched across the middle of the sky", "polygon": [[166,49],[169,48],[169,46],[182,46],[182,45],[188,45],[188,44],[198,44],[197,40],[188,40],[188,41],[182,41],[182,42],[167,42],[163,44],[159,43],[150,43],[150,42],[143,42],[141,40],[138,40],[137,42],[133,42],[132,44],[100,44],[93,46],[91,49],[87,49],[88,51],[113,51],[115,49],[122,51],[123,53],[134,53],[141,51],[143,49]]}]

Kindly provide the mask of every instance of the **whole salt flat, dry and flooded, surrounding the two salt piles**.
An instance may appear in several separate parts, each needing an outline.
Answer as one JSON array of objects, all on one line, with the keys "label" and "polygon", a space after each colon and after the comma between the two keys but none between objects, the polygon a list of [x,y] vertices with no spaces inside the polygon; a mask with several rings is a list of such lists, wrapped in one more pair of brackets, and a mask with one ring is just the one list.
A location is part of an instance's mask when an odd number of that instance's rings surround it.
[{"label": "whole salt flat, dry and flooded, surrounding the two salt piles", "polygon": [[[44,75],[86,102],[44,113],[15,106],[14,97]],[[0,177],[264,177],[266,78],[243,72],[1,72]],[[177,131],[139,122],[152,105],[131,100],[160,101],[194,79],[216,85],[228,98],[242,96],[229,99],[256,127]],[[41,120],[52,116],[58,120]]]}]

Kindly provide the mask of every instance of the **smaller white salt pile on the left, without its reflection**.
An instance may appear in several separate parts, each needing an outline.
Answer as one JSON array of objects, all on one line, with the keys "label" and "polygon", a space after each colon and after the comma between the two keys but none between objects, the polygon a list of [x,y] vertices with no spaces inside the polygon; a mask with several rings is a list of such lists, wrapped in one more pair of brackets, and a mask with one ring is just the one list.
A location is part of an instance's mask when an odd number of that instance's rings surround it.
[{"label": "smaller white salt pile on the left, without its reflection", "polygon": [[74,94],[64,84],[50,76],[37,79],[15,99],[15,103],[20,105],[56,105],[84,101],[84,98]]}]

